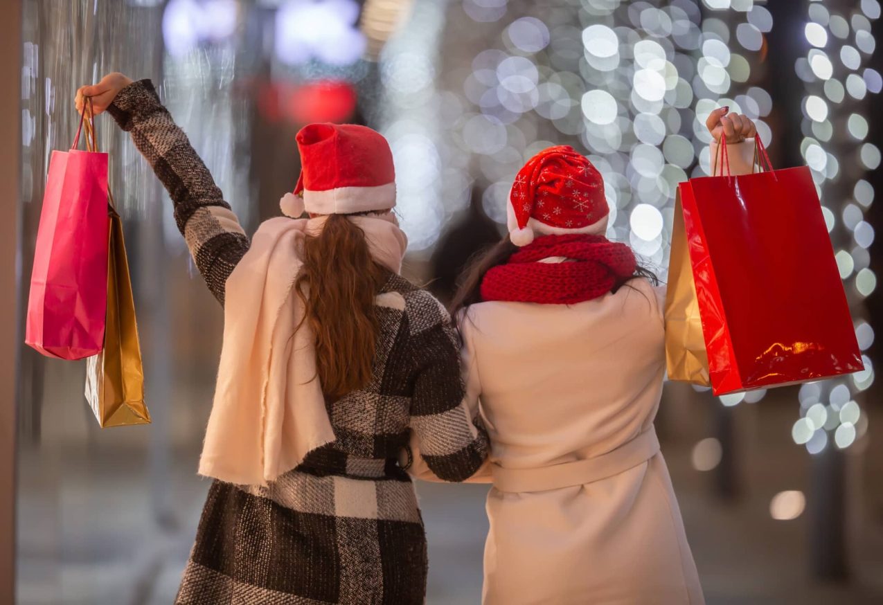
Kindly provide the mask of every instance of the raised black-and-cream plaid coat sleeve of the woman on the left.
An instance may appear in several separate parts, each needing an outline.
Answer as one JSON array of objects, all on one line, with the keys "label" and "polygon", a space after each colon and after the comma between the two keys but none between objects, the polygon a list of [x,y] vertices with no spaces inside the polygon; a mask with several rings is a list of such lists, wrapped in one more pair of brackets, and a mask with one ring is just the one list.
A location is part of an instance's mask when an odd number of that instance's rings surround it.
[{"label": "raised black-and-cream plaid coat sleeve of the woman on the left", "polygon": [[117,124],[132,133],[175,205],[175,221],[196,267],[223,304],[224,285],[248,251],[248,238],[221,190],[187,139],[162,106],[149,79],[133,82],[108,108]]}]

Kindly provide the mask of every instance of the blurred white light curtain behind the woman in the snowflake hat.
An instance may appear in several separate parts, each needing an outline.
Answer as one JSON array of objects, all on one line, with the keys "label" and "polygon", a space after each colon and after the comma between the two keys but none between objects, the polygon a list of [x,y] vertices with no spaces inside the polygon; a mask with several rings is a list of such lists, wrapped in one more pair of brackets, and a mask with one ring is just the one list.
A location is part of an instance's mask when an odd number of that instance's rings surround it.
[{"label": "blurred white light curtain behind the woman in the snowflake hat", "polygon": [[482,49],[463,82],[461,101],[474,111],[453,139],[491,183],[487,214],[504,223],[520,164],[570,143],[604,177],[608,236],[629,242],[664,278],[677,184],[709,170],[708,113],[728,104],[758,120],[767,145],[771,138],[762,120],[770,96],[746,83],[772,17],[752,0],[705,4],[702,19],[698,0],[584,0],[543,11],[464,0],[479,23],[525,9],[502,29],[504,49]]}]

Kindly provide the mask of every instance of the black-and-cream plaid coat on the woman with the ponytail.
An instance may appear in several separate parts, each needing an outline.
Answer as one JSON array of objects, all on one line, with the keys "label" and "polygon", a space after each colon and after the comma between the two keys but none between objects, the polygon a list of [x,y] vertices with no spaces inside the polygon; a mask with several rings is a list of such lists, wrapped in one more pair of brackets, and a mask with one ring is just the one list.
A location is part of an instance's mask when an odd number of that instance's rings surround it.
[{"label": "black-and-cream plaid coat on the woman with the ponytail", "polygon": [[[209,289],[248,249],[230,206],[148,80],[109,112],[170,193]],[[413,486],[397,463],[411,431],[443,480],[464,480],[487,435],[463,404],[457,339],[442,306],[392,273],[377,306],[374,380],[328,402],[336,441],[266,488],[215,481],[177,603],[422,603],[426,538]]]}]

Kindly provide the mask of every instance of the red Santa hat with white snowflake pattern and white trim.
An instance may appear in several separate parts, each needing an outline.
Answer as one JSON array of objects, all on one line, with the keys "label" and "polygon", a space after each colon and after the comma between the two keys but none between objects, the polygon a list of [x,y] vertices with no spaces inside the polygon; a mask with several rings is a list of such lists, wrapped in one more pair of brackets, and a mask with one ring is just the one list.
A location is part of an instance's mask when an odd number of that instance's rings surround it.
[{"label": "red Santa hat with white snowflake pattern and white trim", "polygon": [[543,149],[518,170],[506,209],[516,246],[537,234],[604,235],[610,213],[600,172],[568,145]]}]

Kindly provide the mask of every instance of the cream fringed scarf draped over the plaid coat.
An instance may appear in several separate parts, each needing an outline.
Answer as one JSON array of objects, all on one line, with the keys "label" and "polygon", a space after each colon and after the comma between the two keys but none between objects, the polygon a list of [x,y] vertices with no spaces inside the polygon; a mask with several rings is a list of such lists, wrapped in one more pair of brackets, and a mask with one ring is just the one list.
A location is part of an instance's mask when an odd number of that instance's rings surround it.
[{"label": "cream fringed scarf draped over the plaid coat", "polygon": [[[221,362],[200,474],[267,485],[335,440],[316,377],[313,330],[294,290],[306,234],[327,216],[263,223],[227,280]],[[391,214],[351,216],[374,259],[402,267],[407,238]],[[301,324],[298,329],[295,329]]]}]

